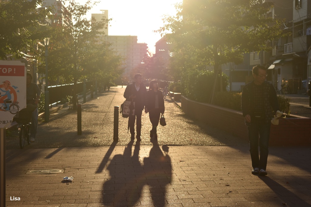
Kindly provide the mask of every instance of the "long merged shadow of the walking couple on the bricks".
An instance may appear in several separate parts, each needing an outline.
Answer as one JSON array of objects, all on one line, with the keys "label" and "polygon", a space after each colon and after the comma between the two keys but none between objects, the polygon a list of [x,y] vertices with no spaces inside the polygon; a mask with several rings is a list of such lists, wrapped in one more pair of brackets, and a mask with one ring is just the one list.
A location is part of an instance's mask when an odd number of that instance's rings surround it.
[{"label": "long merged shadow of the walking couple on the bricks", "polygon": [[[116,154],[107,166],[110,179],[103,184],[102,203],[105,206],[134,206],[140,200],[142,189],[149,185],[154,205],[164,206],[166,185],[171,182],[172,166],[168,146],[153,143],[149,157],[140,162],[140,142],[136,142],[132,154],[133,141],[124,148],[124,153]],[[145,191],[146,192],[146,191]],[[147,197],[143,197],[147,198]],[[150,200],[148,200],[150,202]]]}]

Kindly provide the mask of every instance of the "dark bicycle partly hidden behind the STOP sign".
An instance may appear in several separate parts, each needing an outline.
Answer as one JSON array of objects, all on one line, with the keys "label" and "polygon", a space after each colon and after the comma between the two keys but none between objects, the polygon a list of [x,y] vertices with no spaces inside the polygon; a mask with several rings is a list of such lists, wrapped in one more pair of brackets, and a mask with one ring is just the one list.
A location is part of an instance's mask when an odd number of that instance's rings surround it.
[{"label": "dark bicycle partly hidden behind the STOP sign", "polygon": [[19,133],[19,143],[21,149],[24,148],[25,142],[30,145],[30,127],[31,127],[31,116],[32,113],[35,111],[37,106],[34,106],[32,104],[27,104],[26,108],[23,108],[16,114],[13,118],[13,121],[16,121],[18,123],[18,133]]}]

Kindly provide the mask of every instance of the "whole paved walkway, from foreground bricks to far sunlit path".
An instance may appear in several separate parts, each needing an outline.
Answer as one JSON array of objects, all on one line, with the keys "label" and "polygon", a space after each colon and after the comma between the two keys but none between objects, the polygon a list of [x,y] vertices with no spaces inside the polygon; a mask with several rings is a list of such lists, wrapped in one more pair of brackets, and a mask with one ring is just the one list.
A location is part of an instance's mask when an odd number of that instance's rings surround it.
[{"label": "whole paved walkway, from foreground bricks to far sunlit path", "polygon": [[[67,111],[40,123],[35,143],[23,150],[18,138],[7,138],[7,206],[311,205],[310,147],[271,147],[268,176],[252,175],[245,140],[189,119],[170,100],[158,145],[148,138],[146,114],[140,145],[129,142],[122,117],[119,142],[112,143],[113,106],[124,101],[124,89],[112,87],[82,105],[81,136],[76,112]],[[62,172],[29,174],[38,169]]]}]

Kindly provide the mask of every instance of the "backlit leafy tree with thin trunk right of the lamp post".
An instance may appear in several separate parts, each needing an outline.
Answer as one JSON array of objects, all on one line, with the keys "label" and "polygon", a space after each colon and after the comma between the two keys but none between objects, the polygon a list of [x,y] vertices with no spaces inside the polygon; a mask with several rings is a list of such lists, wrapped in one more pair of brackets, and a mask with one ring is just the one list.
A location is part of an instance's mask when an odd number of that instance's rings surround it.
[{"label": "backlit leafy tree with thin trunk right of the lamp post", "polygon": [[[64,83],[73,83],[74,88],[78,81],[99,72],[99,61],[103,55],[110,55],[103,44],[104,32],[101,29],[109,21],[102,19],[87,19],[86,13],[97,2],[87,1],[80,5],[75,1],[69,1],[67,16],[72,18],[72,24],[53,24],[50,33],[49,44],[49,74],[56,79],[61,76]],[[115,59],[114,59],[115,58]],[[118,65],[119,57],[111,56]],[[44,73],[44,64],[38,66],[38,70]],[[97,67],[97,71],[96,68]],[[113,67],[116,69],[116,67]],[[75,96],[74,96],[75,98]],[[74,105],[75,106],[75,105]]]}]

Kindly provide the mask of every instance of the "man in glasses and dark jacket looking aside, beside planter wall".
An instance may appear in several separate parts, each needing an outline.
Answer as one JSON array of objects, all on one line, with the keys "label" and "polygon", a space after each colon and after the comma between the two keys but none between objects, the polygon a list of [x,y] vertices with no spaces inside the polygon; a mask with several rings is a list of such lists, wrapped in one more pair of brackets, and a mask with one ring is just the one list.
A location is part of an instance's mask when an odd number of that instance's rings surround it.
[{"label": "man in glasses and dark jacket looking aside, beside planter wall", "polygon": [[[248,129],[250,154],[253,174],[267,175],[268,144],[272,119],[272,110],[279,110],[276,90],[265,81],[267,69],[263,66],[253,67],[254,81],[246,84],[242,92],[242,112]],[[258,154],[258,133],[260,159]]]}]

